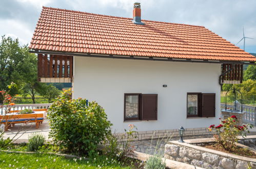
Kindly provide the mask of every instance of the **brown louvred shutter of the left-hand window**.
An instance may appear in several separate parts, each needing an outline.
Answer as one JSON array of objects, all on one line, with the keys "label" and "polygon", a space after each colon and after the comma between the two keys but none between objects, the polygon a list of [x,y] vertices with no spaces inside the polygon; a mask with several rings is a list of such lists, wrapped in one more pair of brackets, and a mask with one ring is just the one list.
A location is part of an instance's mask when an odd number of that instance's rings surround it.
[{"label": "brown louvred shutter of the left-hand window", "polygon": [[142,95],[141,120],[157,120],[157,94]]}]

